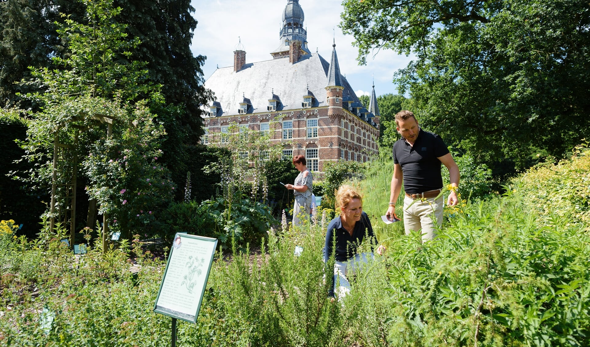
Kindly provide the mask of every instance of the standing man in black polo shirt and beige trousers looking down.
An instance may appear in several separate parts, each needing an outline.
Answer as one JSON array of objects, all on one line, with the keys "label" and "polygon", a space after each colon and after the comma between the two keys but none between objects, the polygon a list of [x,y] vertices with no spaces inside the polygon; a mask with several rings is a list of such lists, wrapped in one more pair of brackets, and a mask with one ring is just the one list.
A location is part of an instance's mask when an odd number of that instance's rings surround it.
[{"label": "standing man in black polo shirt and beige trousers looking down", "polygon": [[[451,186],[459,186],[459,168],[449,153],[447,145],[437,134],[421,130],[411,111],[395,115],[396,130],[402,138],[394,144],[394,176],[391,178],[389,220],[395,216],[395,201],[404,184],[404,227],[408,235],[412,230],[421,232],[422,241],[432,240],[436,225],[442,223],[444,198],[441,163],[448,168]],[[458,203],[457,193],[451,190],[447,204]]]}]

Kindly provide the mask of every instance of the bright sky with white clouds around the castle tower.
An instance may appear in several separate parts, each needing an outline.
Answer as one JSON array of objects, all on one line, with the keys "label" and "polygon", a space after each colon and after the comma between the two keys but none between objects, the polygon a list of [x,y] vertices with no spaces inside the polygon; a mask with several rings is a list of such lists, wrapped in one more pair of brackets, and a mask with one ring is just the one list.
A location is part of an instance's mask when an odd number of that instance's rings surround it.
[{"label": "bright sky with white clouds around the castle tower", "polygon": [[[394,72],[406,67],[411,57],[381,50],[370,54],[366,65],[359,66],[356,61],[358,50],[352,46],[353,37],[343,35],[337,27],[343,12],[341,2],[299,0],[310,51],[315,52],[317,48],[317,52],[330,61],[332,40],[335,39],[340,72],[346,75],[356,95],[371,95],[373,76],[377,95],[397,94],[392,82]],[[202,67],[205,80],[217,65],[221,68],[234,64],[238,37],[246,51],[246,63],[272,59],[270,52],[279,44],[278,32],[287,0],[191,0],[191,4],[196,9],[192,15],[199,22],[191,49],[195,56],[207,57]]]}]

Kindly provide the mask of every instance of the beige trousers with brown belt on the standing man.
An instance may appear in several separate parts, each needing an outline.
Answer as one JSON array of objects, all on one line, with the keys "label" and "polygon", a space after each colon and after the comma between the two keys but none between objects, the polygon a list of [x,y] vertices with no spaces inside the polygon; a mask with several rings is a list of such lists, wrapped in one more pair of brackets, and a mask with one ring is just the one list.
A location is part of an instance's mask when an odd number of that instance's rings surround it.
[{"label": "beige trousers with brown belt on the standing man", "polygon": [[[413,203],[413,204],[412,204]],[[411,206],[410,206],[411,205]],[[444,196],[428,199],[404,197],[404,228],[406,235],[413,230],[422,234],[422,242],[436,237],[435,230],[442,223]]]}]

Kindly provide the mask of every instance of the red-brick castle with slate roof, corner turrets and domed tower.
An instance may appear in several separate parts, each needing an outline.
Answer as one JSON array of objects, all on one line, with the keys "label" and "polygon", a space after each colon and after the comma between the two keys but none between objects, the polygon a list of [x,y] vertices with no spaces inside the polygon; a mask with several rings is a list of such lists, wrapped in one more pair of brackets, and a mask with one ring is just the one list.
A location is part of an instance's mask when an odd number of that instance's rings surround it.
[{"label": "red-brick castle with slate roof, corner turrets and domed tower", "polygon": [[[205,87],[216,100],[204,118],[203,143],[208,134],[227,133],[230,124],[268,131],[271,143],[283,143],[284,159],[302,154],[307,167],[320,172],[327,161],[365,162],[378,154],[375,86],[367,110],[340,73],[336,44],[329,62],[309,51],[303,19],[299,0],[288,0],[271,60],[247,64],[240,43],[234,66],[208,78]],[[275,119],[278,127],[270,127]]]}]

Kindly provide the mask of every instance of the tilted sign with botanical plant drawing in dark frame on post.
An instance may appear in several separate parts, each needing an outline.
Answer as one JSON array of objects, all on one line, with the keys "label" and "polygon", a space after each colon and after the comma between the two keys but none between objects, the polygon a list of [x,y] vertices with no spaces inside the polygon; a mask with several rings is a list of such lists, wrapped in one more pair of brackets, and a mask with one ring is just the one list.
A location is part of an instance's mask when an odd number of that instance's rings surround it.
[{"label": "tilted sign with botanical plant drawing in dark frame on post", "polygon": [[176,233],[154,311],[196,322],[217,239]]}]

